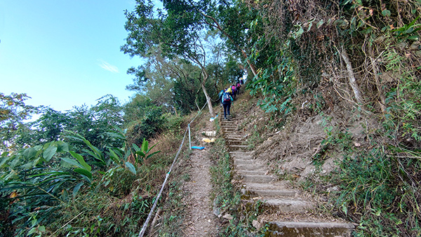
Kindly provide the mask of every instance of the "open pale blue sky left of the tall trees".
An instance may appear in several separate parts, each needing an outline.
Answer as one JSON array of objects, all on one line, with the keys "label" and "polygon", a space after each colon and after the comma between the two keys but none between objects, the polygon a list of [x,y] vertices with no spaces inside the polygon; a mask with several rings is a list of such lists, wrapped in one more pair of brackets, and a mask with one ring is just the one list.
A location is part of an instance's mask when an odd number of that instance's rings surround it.
[{"label": "open pale blue sky left of the tall trees", "polygon": [[27,93],[27,104],[55,110],[96,104],[133,92],[120,51],[127,32],[123,11],[134,0],[0,0],[0,93]]}]

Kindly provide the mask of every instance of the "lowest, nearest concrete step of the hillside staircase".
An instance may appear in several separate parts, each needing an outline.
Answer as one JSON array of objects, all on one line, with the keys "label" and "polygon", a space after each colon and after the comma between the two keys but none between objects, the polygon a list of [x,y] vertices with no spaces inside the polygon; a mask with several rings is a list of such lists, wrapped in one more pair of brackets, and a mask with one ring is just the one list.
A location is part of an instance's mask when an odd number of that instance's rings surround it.
[{"label": "lowest, nearest concrete step of the hillside staircase", "polygon": [[351,236],[354,224],[336,222],[267,222],[265,236]]}]

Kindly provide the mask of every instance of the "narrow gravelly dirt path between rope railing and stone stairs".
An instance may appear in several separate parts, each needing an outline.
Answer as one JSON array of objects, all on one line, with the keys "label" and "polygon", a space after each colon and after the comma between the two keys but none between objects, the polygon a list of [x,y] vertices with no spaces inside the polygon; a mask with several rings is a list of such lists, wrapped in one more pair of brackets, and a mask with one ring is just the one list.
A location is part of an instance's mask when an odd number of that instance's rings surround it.
[{"label": "narrow gravelly dirt path between rope railing and stone stairs", "polygon": [[208,151],[193,150],[190,156],[191,169],[190,180],[186,182],[184,189],[187,198],[185,236],[217,236],[217,220],[213,215],[210,203],[210,160]]}]

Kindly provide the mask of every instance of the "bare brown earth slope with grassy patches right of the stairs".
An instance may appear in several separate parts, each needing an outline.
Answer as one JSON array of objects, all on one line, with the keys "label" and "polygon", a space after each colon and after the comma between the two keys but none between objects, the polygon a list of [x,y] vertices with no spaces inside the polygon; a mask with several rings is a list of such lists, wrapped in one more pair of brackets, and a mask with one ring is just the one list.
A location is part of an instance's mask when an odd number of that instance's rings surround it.
[{"label": "bare brown earth slope with grassy patches right of the stairs", "polygon": [[[328,114],[311,114],[303,106],[288,116],[274,116],[257,107],[257,101],[243,93],[232,106],[233,121],[222,121],[222,130],[231,134],[226,135],[228,147],[231,144],[246,152],[241,158],[239,154],[232,154],[236,168],[247,162],[243,161],[247,157],[260,161],[267,170],[264,175],[278,180],[277,184],[286,189],[298,190],[301,196],[315,203],[316,208],[305,213],[307,219],[340,218],[356,224],[356,233],[374,236],[420,233],[418,229],[399,224],[405,220],[410,223],[411,219],[399,215],[393,205],[404,203],[405,195],[413,195],[415,203],[420,196],[413,192],[399,194],[392,186],[400,177],[392,175],[396,172],[392,157],[379,151],[382,137],[374,129],[379,123],[372,114],[338,102],[328,109]],[[236,143],[240,137],[245,137],[245,142]],[[247,146],[241,147],[244,144]],[[253,174],[237,172],[243,182],[250,179],[247,175],[257,174],[255,171],[250,171]],[[257,176],[251,179],[256,180]],[[273,183],[274,180],[262,182]],[[262,190],[270,191],[267,187]],[[411,210],[407,208],[401,213],[406,211]],[[416,213],[419,215],[417,210]],[[268,220],[294,221],[297,218],[302,217],[288,211],[266,210],[256,218],[255,227],[262,227]]]}]

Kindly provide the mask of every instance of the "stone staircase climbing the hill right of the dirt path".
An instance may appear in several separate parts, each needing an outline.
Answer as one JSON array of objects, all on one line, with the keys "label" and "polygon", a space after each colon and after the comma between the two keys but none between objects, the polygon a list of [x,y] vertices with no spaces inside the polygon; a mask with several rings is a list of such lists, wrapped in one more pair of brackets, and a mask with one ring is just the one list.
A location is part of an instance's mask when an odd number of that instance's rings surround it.
[{"label": "stone staircase climbing the hill right of the dirt path", "polygon": [[286,188],[281,180],[269,174],[267,165],[255,159],[253,151],[248,151],[247,135],[238,129],[238,123],[236,118],[231,118],[222,119],[220,125],[236,176],[241,180],[243,201],[259,200],[265,208],[295,217],[293,222],[278,219],[265,222],[269,225],[265,236],[351,236],[353,224],[307,218],[314,204],[300,191]]}]

